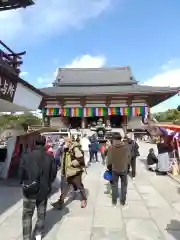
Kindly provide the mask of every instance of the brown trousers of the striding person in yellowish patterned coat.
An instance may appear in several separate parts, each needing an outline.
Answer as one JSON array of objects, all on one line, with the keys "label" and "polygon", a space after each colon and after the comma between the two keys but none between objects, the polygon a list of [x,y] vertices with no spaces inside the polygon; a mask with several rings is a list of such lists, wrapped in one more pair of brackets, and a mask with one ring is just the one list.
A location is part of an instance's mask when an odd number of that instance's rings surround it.
[{"label": "brown trousers of the striding person in yellowish patterned coat", "polygon": [[71,186],[73,186],[74,190],[79,190],[82,200],[86,200],[86,193],[82,183],[82,173],[79,173],[76,176],[68,177],[67,182],[64,179],[64,182],[61,184],[60,200],[62,202],[64,202],[64,199],[67,196]]}]

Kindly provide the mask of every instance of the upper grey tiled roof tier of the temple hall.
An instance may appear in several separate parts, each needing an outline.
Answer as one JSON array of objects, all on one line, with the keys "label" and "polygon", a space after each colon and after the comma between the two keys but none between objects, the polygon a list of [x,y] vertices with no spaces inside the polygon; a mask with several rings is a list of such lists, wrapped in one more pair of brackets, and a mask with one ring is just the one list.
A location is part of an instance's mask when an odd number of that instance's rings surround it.
[{"label": "upper grey tiled roof tier of the temple hall", "polygon": [[136,84],[131,68],[125,67],[103,67],[103,68],[58,68],[54,86],[62,85],[108,85],[114,84]]}]

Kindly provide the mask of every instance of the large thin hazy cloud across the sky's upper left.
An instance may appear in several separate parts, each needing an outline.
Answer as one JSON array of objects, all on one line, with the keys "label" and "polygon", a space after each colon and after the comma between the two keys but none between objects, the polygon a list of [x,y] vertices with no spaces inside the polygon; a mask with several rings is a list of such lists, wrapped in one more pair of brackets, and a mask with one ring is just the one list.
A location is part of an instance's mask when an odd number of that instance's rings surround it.
[{"label": "large thin hazy cloud across the sky's upper left", "polygon": [[81,28],[109,9],[113,0],[38,0],[34,6],[2,12],[0,32],[4,39],[61,34]]}]

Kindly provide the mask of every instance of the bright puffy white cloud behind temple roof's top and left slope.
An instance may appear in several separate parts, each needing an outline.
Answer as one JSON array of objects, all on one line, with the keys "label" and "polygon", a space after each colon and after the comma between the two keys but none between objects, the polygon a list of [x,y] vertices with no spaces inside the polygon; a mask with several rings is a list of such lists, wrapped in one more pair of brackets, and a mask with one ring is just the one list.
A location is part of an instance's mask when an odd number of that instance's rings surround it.
[{"label": "bright puffy white cloud behind temple roof's top and left slope", "polygon": [[[106,58],[104,56],[92,56],[92,55],[82,55],[76,57],[71,63],[61,66],[62,68],[100,68],[106,64]],[[52,82],[56,79],[56,71],[50,77],[39,77],[37,82],[41,87],[51,87]]]}]

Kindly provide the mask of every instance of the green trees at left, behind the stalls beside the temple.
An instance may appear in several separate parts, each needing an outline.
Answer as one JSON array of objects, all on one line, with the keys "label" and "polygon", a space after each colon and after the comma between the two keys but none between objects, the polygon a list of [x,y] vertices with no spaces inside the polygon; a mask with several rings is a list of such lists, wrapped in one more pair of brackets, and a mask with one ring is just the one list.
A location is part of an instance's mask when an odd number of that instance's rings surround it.
[{"label": "green trees at left, behind the stalls beside the temple", "polygon": [[32,113],[24,113],[22,115],[1,115],[0,128],[24,128],[27,129],[31,125],[41,125],[42,120]]}]

